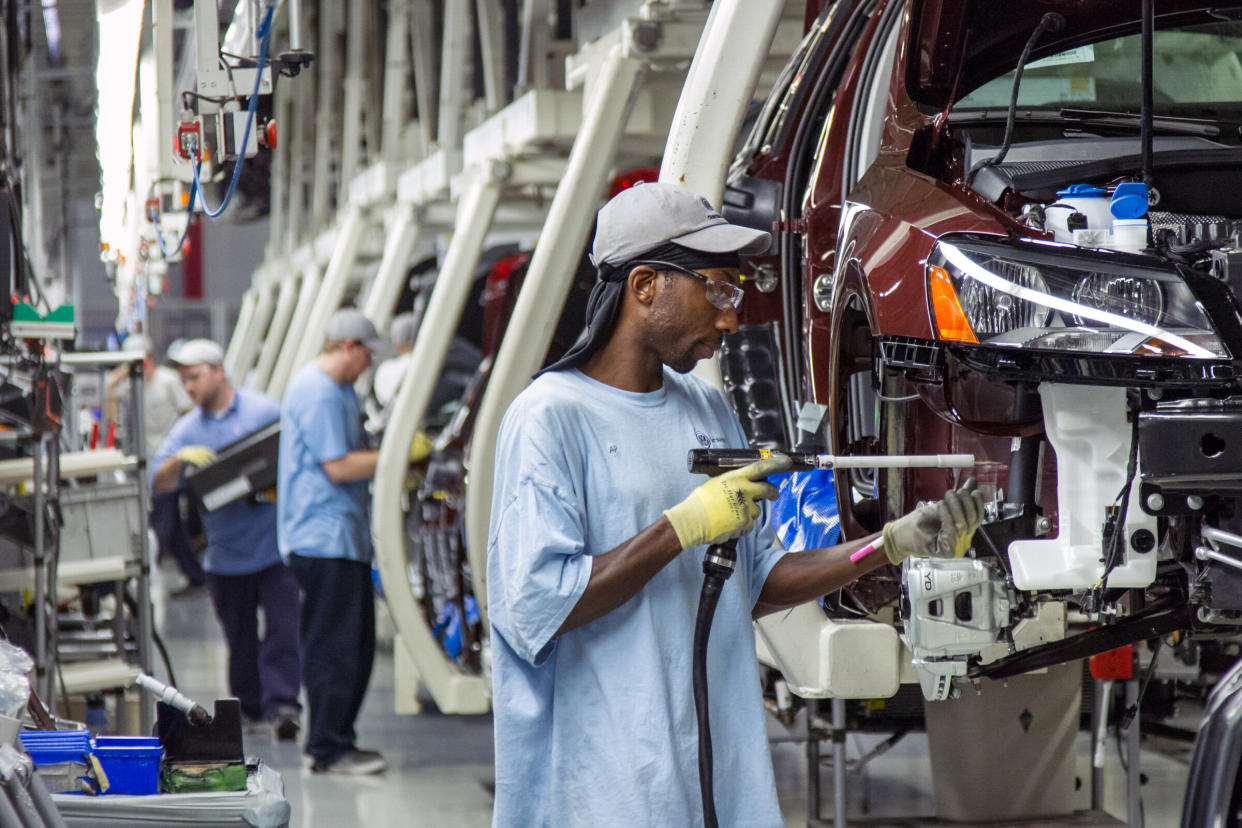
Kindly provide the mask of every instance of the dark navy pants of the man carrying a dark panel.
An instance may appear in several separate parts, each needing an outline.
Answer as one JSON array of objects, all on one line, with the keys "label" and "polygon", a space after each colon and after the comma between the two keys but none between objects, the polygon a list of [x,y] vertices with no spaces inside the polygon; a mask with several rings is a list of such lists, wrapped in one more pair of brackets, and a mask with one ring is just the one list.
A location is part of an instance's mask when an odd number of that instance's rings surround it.
[{"label": "dark navy pants of the man carrying a dark panel", "polygon": [[[298,705],[298,582],[284,564],[251,575],[207,574],[211,601],[229,641],[229,690],[251,719]],[[263,639],[258,639],[258,610]]]}]

